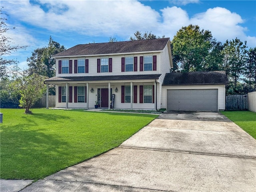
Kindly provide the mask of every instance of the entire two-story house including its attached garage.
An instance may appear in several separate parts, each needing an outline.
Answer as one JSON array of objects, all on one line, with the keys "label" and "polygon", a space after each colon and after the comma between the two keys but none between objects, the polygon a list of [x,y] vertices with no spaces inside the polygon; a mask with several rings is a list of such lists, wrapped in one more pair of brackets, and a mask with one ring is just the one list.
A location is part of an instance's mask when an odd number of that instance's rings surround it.
[{"label": "entire two-story house including its attached garage", "polygon": [[226,74],[170,73],[169,38],[80,44],[54,58],[45,83],[56,85],[57,108],[225,109]]}]

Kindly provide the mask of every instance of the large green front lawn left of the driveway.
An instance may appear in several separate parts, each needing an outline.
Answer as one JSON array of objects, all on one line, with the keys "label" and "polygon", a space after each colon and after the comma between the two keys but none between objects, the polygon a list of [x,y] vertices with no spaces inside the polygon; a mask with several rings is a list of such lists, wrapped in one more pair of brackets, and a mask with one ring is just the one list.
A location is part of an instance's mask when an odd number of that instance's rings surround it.
[{"label": "large green front lawn left of the driveway", "polygon": [[0,178],[44,178],[102,154],[156,115],[82,110],[1,109]]}]

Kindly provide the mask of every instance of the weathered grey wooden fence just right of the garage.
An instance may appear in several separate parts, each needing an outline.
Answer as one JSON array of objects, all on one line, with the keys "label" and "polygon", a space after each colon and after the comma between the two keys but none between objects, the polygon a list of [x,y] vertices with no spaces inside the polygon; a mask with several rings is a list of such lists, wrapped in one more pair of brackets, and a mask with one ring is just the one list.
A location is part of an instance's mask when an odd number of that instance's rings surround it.
[{"label": "weathered grey wooden fence just right of the garage", "polygon": [[226,96],[226,110],[247,110],[248,95]]}]

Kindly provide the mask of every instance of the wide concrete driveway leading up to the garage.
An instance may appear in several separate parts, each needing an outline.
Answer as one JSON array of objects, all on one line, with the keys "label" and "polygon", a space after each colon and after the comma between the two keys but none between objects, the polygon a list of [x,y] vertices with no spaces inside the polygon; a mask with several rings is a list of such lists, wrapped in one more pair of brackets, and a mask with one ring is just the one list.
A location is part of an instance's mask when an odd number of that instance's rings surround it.
[{"label": "wide concrete driveway leading up to the garage", "polygon": [[22,192],[255,192],[256,140],[218,112],[163,113],[119,147]]}]

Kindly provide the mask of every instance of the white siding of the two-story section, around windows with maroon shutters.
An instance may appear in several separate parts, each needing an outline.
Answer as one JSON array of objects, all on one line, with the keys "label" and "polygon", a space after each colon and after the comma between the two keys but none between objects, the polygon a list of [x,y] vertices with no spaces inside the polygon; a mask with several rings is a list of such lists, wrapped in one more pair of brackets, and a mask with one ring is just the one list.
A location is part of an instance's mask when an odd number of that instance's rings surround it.
[{"label": "white siding of the two-story section, around windows with maroon shutters", "polygon": [[[140,56],[154,56],[156,55],[156,71],[140,71]],[[132,72],[121,72],[121,58],[122,57],[137,57],[137,71]],[[98,58],[112,58],[112,72],[101,72],[97,73],[97,59]],[[78,59],[88,59],[88,73],[74,73],[74,60]],[[72,74],[58,74],[58,62],[59,60],[72,60]],[[166,73],[170,72],[170,42],[168,41],[168,44],[166,44],[164,50],[160,50],[159,52],[152,52],[152,53],[134,53],[134,54],[118,54],[118,55],[109,55],[109,56],[88,56],[88,57],[69,57],[69,58],[56,58],[56,76],[57,77],[64,77],[64,76],[113,76],[113,75],[140,75],[140,74],[162,74],[160,78],[156,82],[156,108],[164,108],[162,106],[162,82],[164,80],[164,76]],[[134,85],[138,86],[138,103],[133,104],[134,109],[154,109],[155,104],[140,104],[139,103],[139,86],[143,84],[150,84],[154,85],[154,82],[152,80],[141,80],[141,82],[138,82],[139,80],[131,80],[130,82],[134,82]],[[130,108],[130,103],[121,103],[121,85],[129,85],[130,82],[119,80],[119,81],[112,81],[111,82],[111,88],[113,90],[113,94],[115,95],[115,103],[114,108]],[[148,82],[148,83],[147,83]],[[74,84],[80,84],[80,83],[86,83],[86,82],[68,82],[70,83],[69,86],[75,86]],[[59,84],[56,82],[56,84]],[[93,85],[94,93],[90,92],[90,89]],[[63,85],[65,86],[65,84]],[[118,88],[118,92],[115,93],[114,89]],[[58,88],[58,87],[57,87]],[[56,88],[56,107],[66,107],[66,103],[59,103],[58,102],[58,89]],[[88,106],[89,108],[93,108],[96,100],[96,91],[97,88],[108,88],[108,81],[104,82],[101,81],[98,82],[89,82],[89,94],[88,94]],[[74,88],[73,88],[74,90]],[[68,106],[70,108],[79,108],[80,106],[83,106],[83,108],[86,107],[85,104],[81,103],[74,103],[74,93],[73,93],[73,102],[69,103]]]}]

